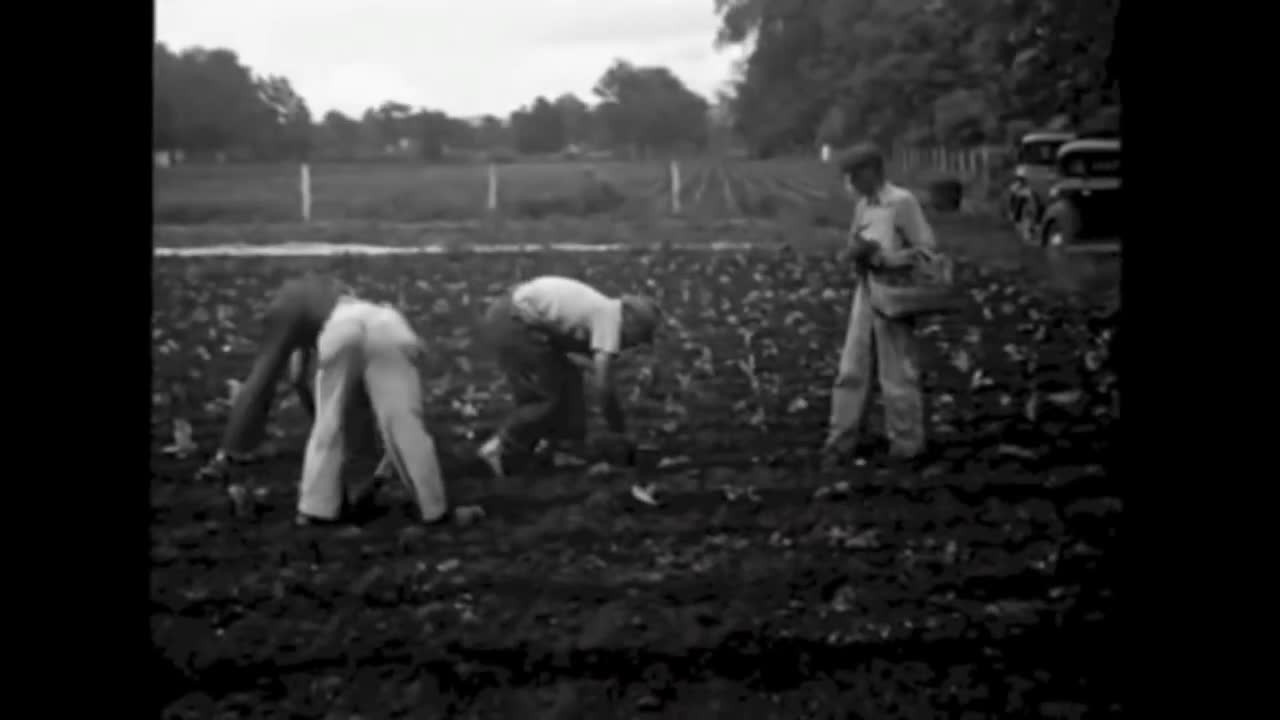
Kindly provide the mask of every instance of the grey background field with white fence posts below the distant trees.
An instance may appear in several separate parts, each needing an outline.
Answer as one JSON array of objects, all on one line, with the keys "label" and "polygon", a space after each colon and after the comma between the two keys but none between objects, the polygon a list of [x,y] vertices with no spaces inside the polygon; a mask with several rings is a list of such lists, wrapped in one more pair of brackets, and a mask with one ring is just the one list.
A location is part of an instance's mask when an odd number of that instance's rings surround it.
[{"label": "grey background field with white fence posts below the distant trees", "polygon": [[[847,223],[849,200],[828,165],[813,159],[681,160],[678,204],[667,163],[497,165],[497,213],[486,165],[314,165],[312,220],[428,222],[594,217],[783,218]],[[616,196],[599,192],[599,178]],[[908,178],[911,179],[911,178]],[[205,165],[155,170],[161,224],[301,219],[300,168]]]}]

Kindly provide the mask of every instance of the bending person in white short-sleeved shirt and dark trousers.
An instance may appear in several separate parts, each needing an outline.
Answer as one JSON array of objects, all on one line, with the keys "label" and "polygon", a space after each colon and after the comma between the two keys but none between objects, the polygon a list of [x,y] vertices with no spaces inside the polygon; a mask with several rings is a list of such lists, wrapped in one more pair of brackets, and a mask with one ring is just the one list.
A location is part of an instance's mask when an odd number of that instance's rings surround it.
[{"label": "bending person in white short-sleeved shirt and dark trousers", "polygon": [[580,452],[586,439],[582,372],[571,355],[588,355],[594,389],[609,430],[622,438],[628,457],[626,421],[614,387],[621,351],[653,342],[662,311],[649,297],[609,297],[564,277],[543,275],[517,284],[495,300],[485,315],[498,365],[511,383],[516,409],[480,457],[498,477],[511,456],[527,459],[541,439]]}]

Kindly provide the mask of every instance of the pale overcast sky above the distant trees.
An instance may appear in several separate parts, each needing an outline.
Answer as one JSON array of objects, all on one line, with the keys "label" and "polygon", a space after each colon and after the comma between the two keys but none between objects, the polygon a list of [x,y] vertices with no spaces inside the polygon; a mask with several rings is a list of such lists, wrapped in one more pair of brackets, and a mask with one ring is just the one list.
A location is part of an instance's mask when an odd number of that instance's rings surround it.
[{"label": "pale overcast sky above the distant trees", "polygon": [[714,0],[156,0],[156,40],[234,50],[289,78],[317,118],[385,100],[506,117],[591,87],[614,58],[669,67],[709,100],[736,50]]}]

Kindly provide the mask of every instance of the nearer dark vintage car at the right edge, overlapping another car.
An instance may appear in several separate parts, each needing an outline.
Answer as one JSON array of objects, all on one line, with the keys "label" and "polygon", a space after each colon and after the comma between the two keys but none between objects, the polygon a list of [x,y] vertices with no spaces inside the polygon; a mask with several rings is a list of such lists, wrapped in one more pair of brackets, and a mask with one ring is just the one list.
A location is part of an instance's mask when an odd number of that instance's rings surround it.
[{"label": "nearer dark vintage car at the right edge, overlapping another car", "polygon": [[1088,138],[1057,151],[1057,182],[1036,232],[1037,245],[1053,250],[1119,247],[1120,141]]}]

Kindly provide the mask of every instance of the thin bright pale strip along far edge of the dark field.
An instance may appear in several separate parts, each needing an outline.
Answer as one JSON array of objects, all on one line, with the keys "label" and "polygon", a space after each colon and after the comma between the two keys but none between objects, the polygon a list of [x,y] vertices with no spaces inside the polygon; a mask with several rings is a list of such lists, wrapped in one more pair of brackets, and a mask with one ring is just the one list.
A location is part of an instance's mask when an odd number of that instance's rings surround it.
[{"label": "thin bright pale strip along far edge of the dark field", "polygon": [[[282,245],[206,245],[200,247],[156,247],[154,252],[157,258],[221,258],[221,256],[247,256],[247,258],[284,258],[284,256],[324,256],[324,255],[443,255],[445,252],[621,252],[632,250],[635,245],[599,245],[580,242],[557,242],[550,245],[358,245],[334,242],[287,242]],[[657,246],[655,246],[657,247]],[[731,250],[749,250],[754,247],[750,242],[698,242],[698,243],[671,243],[669,247],[678,250],[707,250],[709,252],[723,252]]]}]

